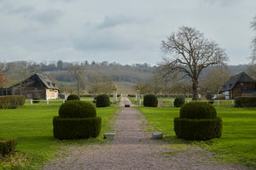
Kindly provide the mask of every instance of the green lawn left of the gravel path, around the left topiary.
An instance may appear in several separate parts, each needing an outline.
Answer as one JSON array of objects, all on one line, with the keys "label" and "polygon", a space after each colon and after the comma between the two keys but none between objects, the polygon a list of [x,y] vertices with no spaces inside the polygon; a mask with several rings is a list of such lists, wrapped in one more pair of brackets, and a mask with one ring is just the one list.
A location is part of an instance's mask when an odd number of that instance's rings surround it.
[{"label": "green lawn left of the gravel path, around the left topiary", "polygon": [[58,149],[67,144],[102,142],[102,134],[112,131],[113,118],[119,108],[113,105],[96,108],[102,116],[102,132],[96,139],[58,140],[53,136],[53,116],[59,106],[25,105],[16,110],[0,110],[0,138],[15,137],[17,152],[1,157],[0,169],[37,169],[58,156]]}]

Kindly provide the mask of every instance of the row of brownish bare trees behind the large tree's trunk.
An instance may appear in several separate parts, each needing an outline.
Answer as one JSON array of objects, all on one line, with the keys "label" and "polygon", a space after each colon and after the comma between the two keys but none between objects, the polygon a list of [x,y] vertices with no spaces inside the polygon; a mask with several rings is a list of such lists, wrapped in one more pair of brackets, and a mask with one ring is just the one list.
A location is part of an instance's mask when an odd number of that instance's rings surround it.
[{"label": "row of brownish bare trees behind the large tree's trunk", "polygon": [[[142,94],[155,94],[166,96],[183,95],[186,97],[192,96],[193,88],[189,78],[180,79],[172,77],[172,80],[164,79],[160,73],[154,72],[148,82],[140,82],[139,85]],[[224,83],[230,78],[230,71],[223,66],[212,66],[208,68],[200,77],[199,93],[207,94],[211,91],[212,94],[218,94]],[[134,87],[134,89],[137,88]]]}]

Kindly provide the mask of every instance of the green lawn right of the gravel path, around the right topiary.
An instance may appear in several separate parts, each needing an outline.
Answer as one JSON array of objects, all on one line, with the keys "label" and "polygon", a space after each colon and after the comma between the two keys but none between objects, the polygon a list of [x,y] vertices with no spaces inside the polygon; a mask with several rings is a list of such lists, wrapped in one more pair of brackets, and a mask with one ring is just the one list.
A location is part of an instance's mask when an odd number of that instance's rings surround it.
[{"label": "green lawn right of the gravel path, around the right topiary", "polygon": [[220,139],[205,142],[177,139],[173,118],[179,116],[179,108],[139,107],[139,110],[154,130],[164,133],[164,140],[170,144],[200,145],[215,153],[219,161],[256,167],[256,109],[216,107],[218,116],[223,119],[223,134]]}]

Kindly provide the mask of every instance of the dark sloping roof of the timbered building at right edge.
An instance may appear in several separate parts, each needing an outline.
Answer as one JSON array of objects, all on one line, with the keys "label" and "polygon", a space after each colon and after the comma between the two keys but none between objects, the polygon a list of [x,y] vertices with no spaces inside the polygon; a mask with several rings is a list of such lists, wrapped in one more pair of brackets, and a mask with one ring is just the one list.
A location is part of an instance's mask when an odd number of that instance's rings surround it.
[{"label": "dark sloping roof of the timbered building at right edge", "polygon": [[255,82],[252,77],[249,77],[245,72],[241,72],[233,77],[230,77],[229,81],[221,88],[220,93],[224,91],[230,91],[233,89],[237,82]]}]

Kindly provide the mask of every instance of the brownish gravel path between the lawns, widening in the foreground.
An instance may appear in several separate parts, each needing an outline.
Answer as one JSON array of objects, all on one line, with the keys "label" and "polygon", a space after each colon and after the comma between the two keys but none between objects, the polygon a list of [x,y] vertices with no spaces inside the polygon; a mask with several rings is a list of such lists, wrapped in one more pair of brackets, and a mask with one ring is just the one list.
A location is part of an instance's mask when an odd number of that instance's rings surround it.
[{"label": "brownish gravel path between the lawns, widening in the foreground", "polygon": [[125,104],[131,101],[121,99],[116,139],[108,144],[69,147],[66,156],[44,169],[246,169],[211,161],[212,154],[200,147],[181,148],[150,139],[151,134],[142,130],[143,114]]}]

